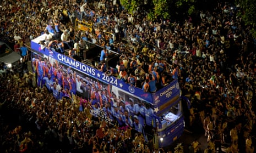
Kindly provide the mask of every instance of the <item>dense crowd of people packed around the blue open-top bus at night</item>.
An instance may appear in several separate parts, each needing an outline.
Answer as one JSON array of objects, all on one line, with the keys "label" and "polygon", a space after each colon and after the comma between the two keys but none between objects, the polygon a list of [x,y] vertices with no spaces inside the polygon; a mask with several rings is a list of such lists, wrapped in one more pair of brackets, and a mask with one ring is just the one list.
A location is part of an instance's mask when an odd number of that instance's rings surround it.
[{"label": "dense crowd of people packed around the blue open-top bus at night", "polygon": [[[1,38],[13,46],[48,31],[61,46],[64,41],[72,46],[70,55],[79,53],[81,40],[114,50],[120,54],[117,77],[145,92],[155,92],[172,79],[179,81],[182,94],[192,103],[184,112],[189,128],[200,121],[208,137],[207,150],[220,152],[225,144],[226,152],[253,152],[256,39],[238,16],[239,5],[219,3],[214,12],[200,12],[199,23],[191,17],[148,21],[143,13],[125,13],[118,1],[4,1],[1,6]],[[74,29],[75,19],[92,22],[92,31]],[[95,33],[96,29],[100,30]],[[106,32],[111,33],[109,38]],[[68,35],[66,40],[62,33]],[[79,98],[73,103],[65,98],[57,101],[47,88],[36,87],[34,75],[22,72],[1,66],[2,105],[19,110],[28,119],[24,122],[37,130],[1,126],[3,151],[64,151],[53,140],[67,144],[70,151],[154,150],[140,134],[117,132],[118,128],[86,114],[86,107],[79,111]]]}]

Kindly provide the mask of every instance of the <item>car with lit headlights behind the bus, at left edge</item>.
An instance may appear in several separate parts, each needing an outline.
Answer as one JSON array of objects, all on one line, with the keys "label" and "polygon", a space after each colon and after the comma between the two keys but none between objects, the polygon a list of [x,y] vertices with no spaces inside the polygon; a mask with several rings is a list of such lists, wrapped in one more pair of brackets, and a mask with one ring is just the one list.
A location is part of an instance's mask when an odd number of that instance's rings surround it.
[{"label": "car with lit headlights behind the bus, at left edge", "polygon": [[[20,61],[20,62],[19,62]],[[8,69],[12,70],[22,61],[21,55],[13,52],[8,44],[0,41],[0,63],[4,63]]]}]

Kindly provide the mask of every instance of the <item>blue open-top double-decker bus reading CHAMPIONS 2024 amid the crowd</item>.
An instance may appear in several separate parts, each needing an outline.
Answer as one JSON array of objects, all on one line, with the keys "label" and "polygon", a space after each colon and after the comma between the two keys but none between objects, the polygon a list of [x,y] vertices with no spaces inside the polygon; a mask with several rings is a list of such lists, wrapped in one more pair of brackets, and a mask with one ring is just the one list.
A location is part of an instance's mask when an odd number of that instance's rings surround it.
[{"label": "blue open-top double-decker bus reading CHAMPIONS 2024 amid the crowd", "polygon": [[144,92],[94,66],[42,47],[44,39],[41,35],[31,40],[37,86],[46,86],[57,100],[78,95],[90,107],[92,117],[123,131],[141,133],[146,141],[154,142],[155,148],[166,147],[181,137],[185,124],[177,80],[155,93]]}]

